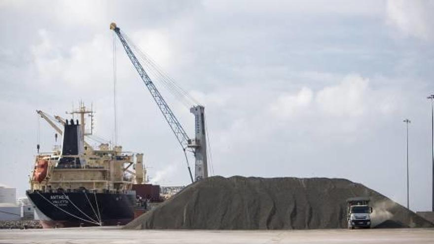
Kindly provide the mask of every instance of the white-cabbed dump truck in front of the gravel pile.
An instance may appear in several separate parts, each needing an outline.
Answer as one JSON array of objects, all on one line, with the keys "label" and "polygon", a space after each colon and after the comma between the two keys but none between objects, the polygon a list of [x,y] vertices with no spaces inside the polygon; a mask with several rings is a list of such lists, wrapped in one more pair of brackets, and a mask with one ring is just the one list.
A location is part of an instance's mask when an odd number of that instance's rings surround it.
[{"label": "white-cabbed dump truck in front of the gravel pile", "polygon": [[372,207],[369,207],[369,200],[369,197],[347,199],[348,229],[371,227]]}]

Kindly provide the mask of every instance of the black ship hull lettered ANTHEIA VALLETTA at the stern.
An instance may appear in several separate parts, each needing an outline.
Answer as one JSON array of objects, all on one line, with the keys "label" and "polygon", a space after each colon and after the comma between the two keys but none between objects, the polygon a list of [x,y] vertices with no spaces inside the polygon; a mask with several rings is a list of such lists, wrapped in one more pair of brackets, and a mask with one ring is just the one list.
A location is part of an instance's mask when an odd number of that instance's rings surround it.
[{"label": "black ship hull lettered ANTHEIA VALLETTA at the stern", "polygon": [[43,228],[124,225],[134,218],[136,195],[130,193],[27,191]]}]

